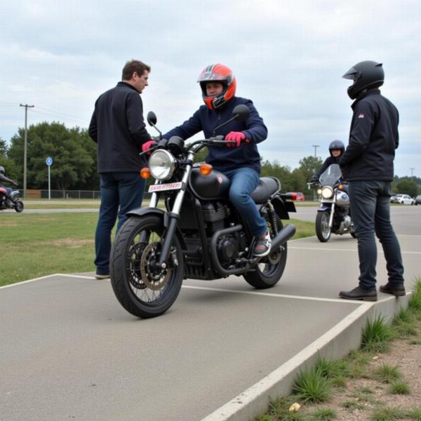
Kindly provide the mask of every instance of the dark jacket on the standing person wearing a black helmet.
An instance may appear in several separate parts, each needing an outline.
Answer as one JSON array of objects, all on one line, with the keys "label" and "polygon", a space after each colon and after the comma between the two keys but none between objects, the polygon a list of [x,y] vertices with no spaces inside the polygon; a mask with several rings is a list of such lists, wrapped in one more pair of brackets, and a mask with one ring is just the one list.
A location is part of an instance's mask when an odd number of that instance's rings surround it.
[{"label": "dark jacket on the standing person wearing a black helmet", "polygon": [[399,112],[378,89],[352,104],[349,144],[339,161],[348,181],[392,181],[395,149],[399,146]]}]

